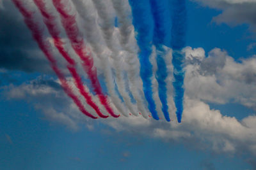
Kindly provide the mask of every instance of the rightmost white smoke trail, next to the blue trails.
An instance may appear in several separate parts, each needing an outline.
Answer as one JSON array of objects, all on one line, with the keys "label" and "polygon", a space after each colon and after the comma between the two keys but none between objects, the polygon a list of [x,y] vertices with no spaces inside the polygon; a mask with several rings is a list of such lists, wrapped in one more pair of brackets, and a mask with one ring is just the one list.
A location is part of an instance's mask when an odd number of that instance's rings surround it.
[{"label": "rightmost white smoke trail, next to the blue trails", "polygon": [[[140,92],[140,85],[138,82],[141,81],[140,72],[140,62],[136,57],[138,53],[138,46],[136,40],[134,39],[134,27],[132,25],[132,20],[129,14],[131,13],[131,7],[129,2],[125,3],[124,0],[112,0],[113,7],[116,11],[118,17],[118,28],[120,31],[120,45],[127,52],[125,55],[125,62],[128,64],[127,76],[129,79],[129,86],[131,89],[132,96],[138,105],[138,110],[143,115],[143,117],[148,118],[147,111],[145,109],[145,104],[143,99],[144,94]],[[141,96],[142,94],[142,96]]]}]

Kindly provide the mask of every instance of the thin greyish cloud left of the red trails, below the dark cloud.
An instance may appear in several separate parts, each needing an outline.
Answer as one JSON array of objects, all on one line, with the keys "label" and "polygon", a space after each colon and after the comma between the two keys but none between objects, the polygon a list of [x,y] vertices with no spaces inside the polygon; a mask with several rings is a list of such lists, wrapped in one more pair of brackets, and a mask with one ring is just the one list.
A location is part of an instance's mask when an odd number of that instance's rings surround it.
[{"label": "thin greyish cloud left of the red trails, below the dark cloud", "polygon": [[6,99],[26,100],[36,110],[42,111],[50,122],[58,122],[70,129],[77,130],[80,121],[88,120],[65,95],[59,81],[39,76],[36,80],[18,86],[11,84],[1,87],[0,90]]}]

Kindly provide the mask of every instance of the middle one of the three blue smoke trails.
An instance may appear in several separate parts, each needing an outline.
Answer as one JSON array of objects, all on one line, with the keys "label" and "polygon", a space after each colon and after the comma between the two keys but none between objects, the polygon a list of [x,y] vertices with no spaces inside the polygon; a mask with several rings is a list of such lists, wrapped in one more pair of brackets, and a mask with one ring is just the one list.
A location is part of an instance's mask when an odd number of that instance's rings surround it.
[{"label": "middle one of the three blue smoke trails", "polygon": [[[168,44],[171,39],[170,34],[170,14],[168,11],[168,1],[164,0],[150,0],[151,9],[154,18],[154,39],[153,43],[157,50],[157,72],[156,79],[159,85],[159,99],[163,105],[162,111],[164,113],[165,119],[170,122],[170,117],[168,113],[168,102],[167,102],[167,88],[166,88],[166,78],[168,76],[166,63],[164,61],[164,56],[166,55],[166,50],[164,50],[163,45]],[[170,43],[169,43],[170,44]]]}]

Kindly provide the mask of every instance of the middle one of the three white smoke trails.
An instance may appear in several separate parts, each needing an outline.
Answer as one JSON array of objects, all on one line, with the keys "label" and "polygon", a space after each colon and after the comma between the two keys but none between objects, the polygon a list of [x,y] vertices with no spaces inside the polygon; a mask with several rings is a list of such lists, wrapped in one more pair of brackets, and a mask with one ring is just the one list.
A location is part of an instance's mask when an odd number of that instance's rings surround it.
[{"label": "middle one of the three white smoke trails", "polygon": [[[116,72],[116,84],[118,87],[118,91],[120,92],[121,96],[124,99],[126,106],[131,111],[132,115],[138,116],[138,112],[134,110],[134,105],[131,103],[131,98],[128,92],[125,90],[125,81],[124,81],[124,72],[122,70],[122,56],[120,52],[120,46],[116,43],[114,38],[114,24],[115,20],[114,17],[109,13],[113,11],[109,9],[109,5],[107,4],[108,1],[99,1],[99,0],[92,0],[95,8],[97,9],[97,13],[99,14],[100,19],[102,22],[100,23],[100,29],[103,33],[104,40],[106,45],[108,46],[109,50],[111,50],[113,58],[113,67]],[[121,48],[122,49],[122,48]]]}]

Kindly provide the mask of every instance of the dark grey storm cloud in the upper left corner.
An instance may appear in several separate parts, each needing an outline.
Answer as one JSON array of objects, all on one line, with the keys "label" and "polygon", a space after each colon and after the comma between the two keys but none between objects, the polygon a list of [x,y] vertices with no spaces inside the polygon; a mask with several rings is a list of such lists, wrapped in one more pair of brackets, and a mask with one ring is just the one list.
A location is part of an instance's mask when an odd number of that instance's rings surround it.
[{"label": "dark grey storm cloud in the upper left corner", "polygon": [[19,11],[11,1],[0,1],[0,6],[1,3],[4,8],[0,8],[0,68],[51,73],[47,60],[33,41]]}]

